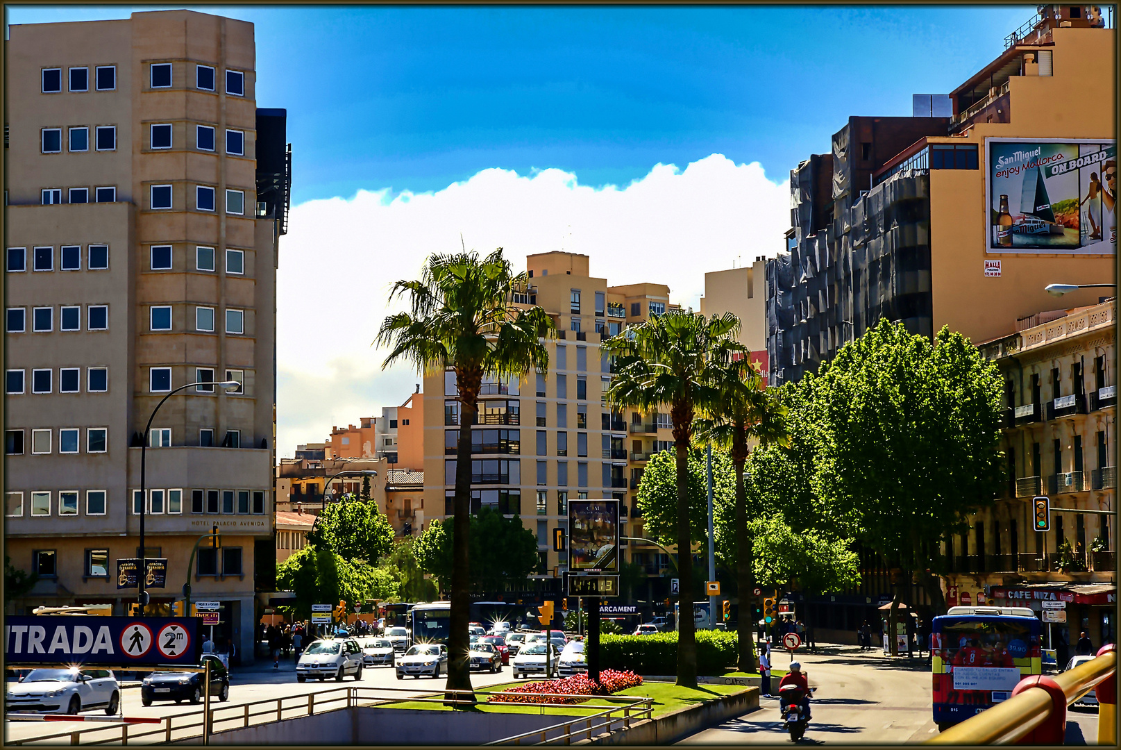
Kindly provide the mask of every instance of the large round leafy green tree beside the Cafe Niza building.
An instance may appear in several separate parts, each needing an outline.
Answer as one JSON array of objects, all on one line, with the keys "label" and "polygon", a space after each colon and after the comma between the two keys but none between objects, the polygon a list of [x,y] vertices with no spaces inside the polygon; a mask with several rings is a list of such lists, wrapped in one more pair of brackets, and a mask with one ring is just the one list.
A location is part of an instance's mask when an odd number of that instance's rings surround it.
[{"label": "large round leafy green tree beside the Cafe Niza building", "polygon": [[[937,539],[992,503],[1001,475],[1003,383],[994,362],[947,327],[932,342],[880,323],[821,367],[817,494],[860,539],[945,611]],[[897,587],[889,628],[895,630]],[[891,639],[896,651],[896,640]]]}]

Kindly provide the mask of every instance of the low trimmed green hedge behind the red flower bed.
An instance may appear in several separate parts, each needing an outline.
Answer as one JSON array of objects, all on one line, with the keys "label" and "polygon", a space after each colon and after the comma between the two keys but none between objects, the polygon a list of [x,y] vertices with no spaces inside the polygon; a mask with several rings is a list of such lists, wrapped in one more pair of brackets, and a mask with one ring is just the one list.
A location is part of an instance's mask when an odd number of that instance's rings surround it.
[{"label": "low trimmed green hedge behind the red flower bed", "polygon": [[[697,675],[720,676],[734,668],[739,641],[734,632],[697,630]],[[649,636],[600,636],[600,666],[640,675],[677,674],[677,631]]]}]

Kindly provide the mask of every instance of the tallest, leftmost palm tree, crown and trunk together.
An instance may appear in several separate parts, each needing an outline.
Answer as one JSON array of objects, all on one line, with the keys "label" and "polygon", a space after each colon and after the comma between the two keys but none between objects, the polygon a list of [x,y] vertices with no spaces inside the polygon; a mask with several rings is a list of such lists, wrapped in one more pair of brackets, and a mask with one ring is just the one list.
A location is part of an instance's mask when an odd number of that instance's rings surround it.
[{"label": "tallest, leftmost palm tree, crown and trunk together", "polygon": [[530,368],[546,372],[549,355],[541,339],[556,333],[553,318],[540,307],[522,308],[513,304],[513,293],[528,281],[525,272],[510,270],[502,248],[482,260],[478,253],[467,251],[430,256],[419,280],[398,281],[390,293],[390,300],[407,294],[410,311],[390,315],[378,332],[377,343],[391,346],[382,369],[398,360],[408,360],[424,374],[455,372],[458,386],[447,689],[471,689],[467,661],[471,425],[479,414],[482,381],[483,378],[520,380]]}]

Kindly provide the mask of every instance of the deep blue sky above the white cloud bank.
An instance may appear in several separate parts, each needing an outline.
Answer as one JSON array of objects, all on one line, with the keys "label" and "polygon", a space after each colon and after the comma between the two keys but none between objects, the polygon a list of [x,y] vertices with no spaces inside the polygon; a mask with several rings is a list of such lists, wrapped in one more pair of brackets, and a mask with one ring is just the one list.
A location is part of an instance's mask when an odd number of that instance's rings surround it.
[{"label": "deep blue sky above the white cloud bank", "polygon": [[[168,6],[170,7],[170,6]],[[182,6],[176,6],[182,7]],[[8,6],[8,22],[127,18]],[[136,8],[154,10],[156,7]],[[257,26],[260,107],[289,113],[299,203],[556,167],[626,186],[711,154],[782,180],[850,114],[910,114],[1030,6],[198,7]]]}]

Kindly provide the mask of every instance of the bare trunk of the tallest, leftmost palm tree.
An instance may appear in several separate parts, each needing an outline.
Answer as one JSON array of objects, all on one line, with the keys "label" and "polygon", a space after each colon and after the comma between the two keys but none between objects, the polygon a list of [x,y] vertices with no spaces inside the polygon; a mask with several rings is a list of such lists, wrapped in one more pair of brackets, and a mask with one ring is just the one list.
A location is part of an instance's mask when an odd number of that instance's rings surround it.
[{"label": "bare trunk of the tallest, leftmost palm tree", "polygon": [[[460,408],[460,442],[455,448],[455,501],[452,522],[452,607],[447,638],[447,689],[470,691],[471,664],[467,623],[471,621],[470,545],[471,545],[471,425],[479,407],[473,398],[464,396]],[[466,695],[445,694],[445,700]],[[474,700],[474,696],[471,696]],[[454,705],[454,704],[453,704]]]}]

